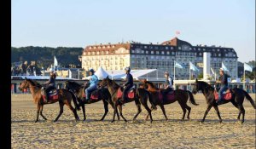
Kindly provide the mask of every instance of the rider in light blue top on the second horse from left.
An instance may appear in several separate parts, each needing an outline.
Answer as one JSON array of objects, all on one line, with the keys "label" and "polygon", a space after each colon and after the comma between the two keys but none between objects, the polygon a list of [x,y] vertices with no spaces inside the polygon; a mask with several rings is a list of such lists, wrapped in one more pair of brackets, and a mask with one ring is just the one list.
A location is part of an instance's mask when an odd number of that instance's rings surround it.
[{"label": "rider in light blue top on the second horse from left", "polygon": [[85,89],[85,94],[86,94],[86,100],[89,101],[90,100],[90,93],[97,89],[97,83],[99,81],[98,77],[96,77],[96,75],[94,74],[94,70],[91,68],[89,70],[89,74],[90,74],[90,82],[89,82],[89,87]]}]

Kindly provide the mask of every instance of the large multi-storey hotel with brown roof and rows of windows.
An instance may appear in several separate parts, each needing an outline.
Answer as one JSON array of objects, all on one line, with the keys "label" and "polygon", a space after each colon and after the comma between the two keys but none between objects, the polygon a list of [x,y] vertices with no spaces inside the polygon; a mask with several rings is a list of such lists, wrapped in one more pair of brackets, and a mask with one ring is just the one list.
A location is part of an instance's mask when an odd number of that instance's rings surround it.
[{"label": "large multi-storey hotel with brown roof and rows of windows", "polygon": [[[89,45],[83,50],[79,60],[82,68],[89,70],[102,66],[105,70],[124,70],[126,66],[131,69],[158,69],[168,71],[173,76],[174,61],[181,64],[183,69],[176,68],[176,79],[189,79],[189,61],[203,69],[203,53],[211,54],[211,68],[218,73],[224,63],[229,69],[232,79],[237,77],[237,54],[232,48],[196,45],[174,37],[172,40],[160,44],[145,43],[117,43]],[[218,74],[217,74],[218,76]]]}]

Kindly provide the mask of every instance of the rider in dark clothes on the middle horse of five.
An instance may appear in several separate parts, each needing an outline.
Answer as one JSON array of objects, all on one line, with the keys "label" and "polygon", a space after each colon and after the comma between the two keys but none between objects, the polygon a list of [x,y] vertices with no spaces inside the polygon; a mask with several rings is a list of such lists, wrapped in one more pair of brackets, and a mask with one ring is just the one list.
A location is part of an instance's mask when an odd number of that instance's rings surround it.
[{"label": "rider in dark clothes on the middle horse of five", "polygon": [[125,95],[127,94],[128,90],[131,89],[131,87],[133,86],[133,77],[130,72],[131,72],[130,66],[126,67],[125,68],[126,83],[124,85],[125,89],[123,91],[123,95],[121,99],[122,102],[125,102],[127,100]]}]

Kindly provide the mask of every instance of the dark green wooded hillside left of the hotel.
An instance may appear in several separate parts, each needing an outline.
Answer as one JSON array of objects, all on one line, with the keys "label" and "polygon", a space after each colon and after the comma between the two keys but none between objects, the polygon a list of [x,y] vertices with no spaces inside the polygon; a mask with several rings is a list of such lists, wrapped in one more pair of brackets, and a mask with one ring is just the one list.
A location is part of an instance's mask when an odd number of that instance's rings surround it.
[{"label": "dark green wooded hillside left of the hotel", "polygon": [[[50,47],[20,47],[11,48],[11,62],[16,61],[37,61],[39,68],[53,65],[54,56],[58,60],[60,66],[80,65],[79,55],[83,52],[82,48],[50,48]],[[30,64],[30,63],[29,63]]]}]

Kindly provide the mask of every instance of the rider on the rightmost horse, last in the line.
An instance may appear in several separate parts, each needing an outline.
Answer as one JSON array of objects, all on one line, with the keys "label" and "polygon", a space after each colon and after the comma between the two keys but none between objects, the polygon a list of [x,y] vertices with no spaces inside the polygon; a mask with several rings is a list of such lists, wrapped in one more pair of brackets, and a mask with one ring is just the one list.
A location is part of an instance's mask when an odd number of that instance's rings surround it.
[{"label": "rider on the rightmost horse, last in the line", "polygon": [[219,81],[220,81],[220,89],[218,91],[218,100],[216,101],[219,104],[222,101],[223,92],[228,89],[228,75],[224,72],[223,68],[219,69]]}]

